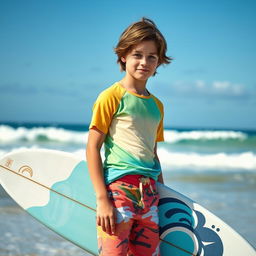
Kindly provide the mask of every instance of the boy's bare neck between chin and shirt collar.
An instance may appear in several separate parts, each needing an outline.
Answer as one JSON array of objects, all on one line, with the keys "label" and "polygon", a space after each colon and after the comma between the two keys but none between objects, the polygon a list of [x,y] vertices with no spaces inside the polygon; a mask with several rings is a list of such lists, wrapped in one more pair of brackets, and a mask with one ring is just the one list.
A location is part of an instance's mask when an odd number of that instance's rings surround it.
[{"label": "boy's bare neck between chin and shirt collar", "polygon": [[138,95],[149,96],[150,93],[146,89],[147,81],[131,80],[124,77],[119,83],[128,91],[136,93]]}]

